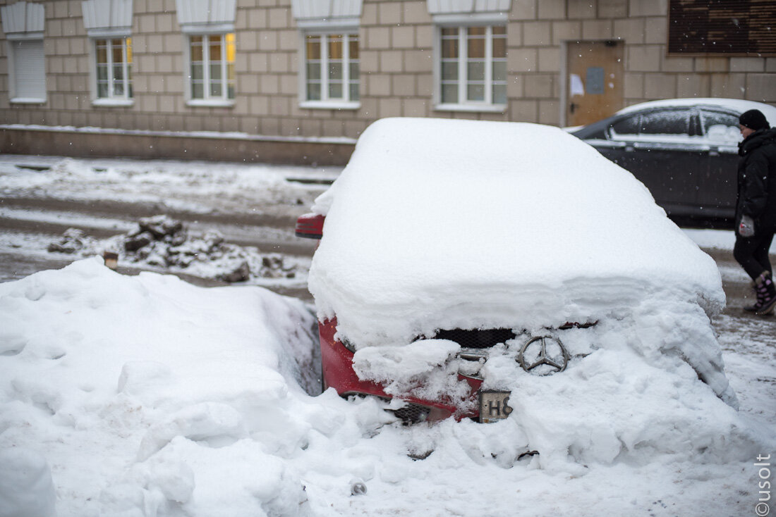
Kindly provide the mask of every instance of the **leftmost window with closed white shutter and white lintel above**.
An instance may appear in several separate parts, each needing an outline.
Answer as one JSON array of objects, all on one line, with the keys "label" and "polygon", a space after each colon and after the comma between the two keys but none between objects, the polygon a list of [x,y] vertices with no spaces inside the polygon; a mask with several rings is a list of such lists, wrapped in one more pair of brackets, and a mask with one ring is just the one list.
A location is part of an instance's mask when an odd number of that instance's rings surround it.
[{"label": "leftmost window with closed white shutter and white lintel above", "polygon": [[0,7],[9,57],[12,103],[46,102],[46,57],[43,50],[43,5],[16,2]]}]

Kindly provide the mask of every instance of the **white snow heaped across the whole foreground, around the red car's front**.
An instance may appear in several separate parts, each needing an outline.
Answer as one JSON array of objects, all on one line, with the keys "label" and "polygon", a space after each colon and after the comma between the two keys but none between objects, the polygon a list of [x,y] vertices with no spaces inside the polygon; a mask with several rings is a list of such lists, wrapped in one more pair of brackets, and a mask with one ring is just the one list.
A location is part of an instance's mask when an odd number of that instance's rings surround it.
[{"label": "white snow heaped across the whole foreground, around the red car's front", "polygon": [[[689,367],[631,359],[666,319],[563,331],[573,365],[549,377],[509,371],[505,347],[483,368],[513,390],[509,419],[411,427],[374,398],[307,394],[313,324],[262,288],[97,258],[0,284],[0,515],[53,515],[52,483],[59,517],[743,515],[750,453],[773,450]],[[452,361],[452,343],[425,344],[362,357],[398,374]]]}]

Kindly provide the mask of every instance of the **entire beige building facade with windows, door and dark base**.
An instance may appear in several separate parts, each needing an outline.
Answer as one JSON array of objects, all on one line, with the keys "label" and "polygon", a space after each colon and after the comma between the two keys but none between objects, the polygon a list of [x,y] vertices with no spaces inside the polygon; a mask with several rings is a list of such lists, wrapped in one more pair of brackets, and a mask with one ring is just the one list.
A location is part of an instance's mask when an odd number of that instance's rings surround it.
[{"label": "entire beige building facade with windows, door and dark base", "polygon": [[774,5],[0,0],[0,151],[342,164],[390,116],[573,126],[660,98],[776,104]]}]

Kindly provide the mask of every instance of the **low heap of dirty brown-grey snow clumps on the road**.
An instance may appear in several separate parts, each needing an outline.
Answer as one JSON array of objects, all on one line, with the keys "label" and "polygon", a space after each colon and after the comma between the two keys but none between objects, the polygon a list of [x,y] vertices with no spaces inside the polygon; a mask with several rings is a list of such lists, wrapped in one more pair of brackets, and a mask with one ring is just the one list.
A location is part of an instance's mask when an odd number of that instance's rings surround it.
[{"label": "low heap of dirty brown-grey snow clumps on the road", "polygon": [[255,247],[225,243],[216,230],[202,235],[189,232],[182,222],[168,215],[142,218],[123,236],[95,240],[81,229],[68,229],[50,243],[54,253],[91,257],[105,251],[116,253],[120,264],[186,272],[226,282],[303,280],[305,260],[279,253],[260,253]]}]

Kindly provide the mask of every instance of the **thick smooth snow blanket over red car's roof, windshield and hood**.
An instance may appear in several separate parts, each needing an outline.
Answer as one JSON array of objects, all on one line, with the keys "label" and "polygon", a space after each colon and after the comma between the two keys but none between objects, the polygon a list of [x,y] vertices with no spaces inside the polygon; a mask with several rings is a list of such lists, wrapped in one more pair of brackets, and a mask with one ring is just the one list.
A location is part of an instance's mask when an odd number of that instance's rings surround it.
[{"label": "thick smooth snow blanket over red car's roof, windshield and hood", "polygon": [[319,315],[365,344],[597,319],[659,291],[724,305],[713,260],[643,184],[550,126],[380,120],[314,211]]}]

